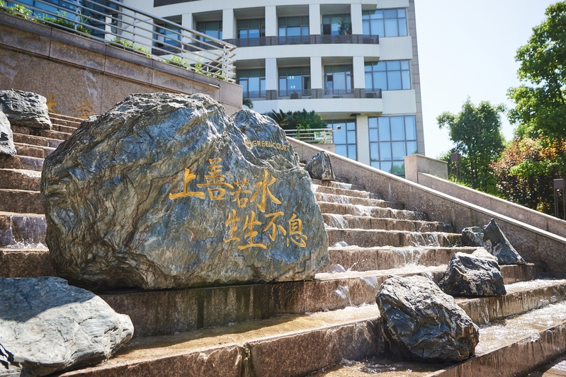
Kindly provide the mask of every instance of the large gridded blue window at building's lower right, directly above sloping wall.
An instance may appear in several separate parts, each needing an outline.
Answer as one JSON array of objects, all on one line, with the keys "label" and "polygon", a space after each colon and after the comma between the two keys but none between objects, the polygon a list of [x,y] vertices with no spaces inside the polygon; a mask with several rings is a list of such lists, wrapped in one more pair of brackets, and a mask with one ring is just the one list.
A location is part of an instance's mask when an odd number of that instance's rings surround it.
[{"label": "large gridded blue window at building's lower right, directly above sloping wall", "polygon": [[415,116],[370,117],[368,126],[371,166],[404,176],[403,157],[417,153]]}]

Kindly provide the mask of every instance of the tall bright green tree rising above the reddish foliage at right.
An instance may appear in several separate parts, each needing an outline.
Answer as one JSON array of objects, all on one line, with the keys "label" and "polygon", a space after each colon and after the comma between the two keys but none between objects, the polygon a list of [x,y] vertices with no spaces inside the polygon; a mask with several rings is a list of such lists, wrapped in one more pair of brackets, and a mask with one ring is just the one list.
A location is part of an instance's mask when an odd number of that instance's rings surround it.
[{"label": "tall bright green tree rising above the reddish foliage at right", "polygon": [[566,135],[566,1],[548,6],[546,19],[533,28],[526,45],[517,50],[519,79],[523,84],[507,95],[516,103],[509,121],[518,137]]}]

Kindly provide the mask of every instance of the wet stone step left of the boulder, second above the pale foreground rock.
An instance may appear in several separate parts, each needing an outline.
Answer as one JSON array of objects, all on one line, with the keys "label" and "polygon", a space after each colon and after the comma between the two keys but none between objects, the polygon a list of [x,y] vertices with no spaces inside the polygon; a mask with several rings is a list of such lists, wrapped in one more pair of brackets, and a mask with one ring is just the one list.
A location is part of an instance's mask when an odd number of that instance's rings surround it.
[{"label": "wet stone step left of the boulder, second above the pale foreground rock", "polygon": [[45,216],[0,212],[0,248],[45,247]]}]

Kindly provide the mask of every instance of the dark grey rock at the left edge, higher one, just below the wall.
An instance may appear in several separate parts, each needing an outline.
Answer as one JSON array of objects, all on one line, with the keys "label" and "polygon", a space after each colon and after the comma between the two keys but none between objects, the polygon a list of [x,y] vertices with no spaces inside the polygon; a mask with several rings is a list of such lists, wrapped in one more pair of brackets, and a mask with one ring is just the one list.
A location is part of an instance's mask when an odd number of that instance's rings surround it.
[{"label": "dark grey rock at the left edge, higher one, just below the wall", "polygon": [[0,91],[0,110],[10,124],[32,128],[51,129],[53,125],[43,95],[23,91]]}]

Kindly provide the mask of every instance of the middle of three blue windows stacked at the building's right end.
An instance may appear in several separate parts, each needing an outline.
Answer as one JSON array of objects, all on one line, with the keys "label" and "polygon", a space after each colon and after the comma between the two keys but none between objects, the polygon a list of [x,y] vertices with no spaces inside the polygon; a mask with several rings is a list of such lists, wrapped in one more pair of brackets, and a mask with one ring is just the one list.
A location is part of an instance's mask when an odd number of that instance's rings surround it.
[{"label": "middle of three blue windows stacked at the building's right end", "polygon": [[408,60],[366,62],[366,91],[401,91],[411,88],[411,71]]}]

